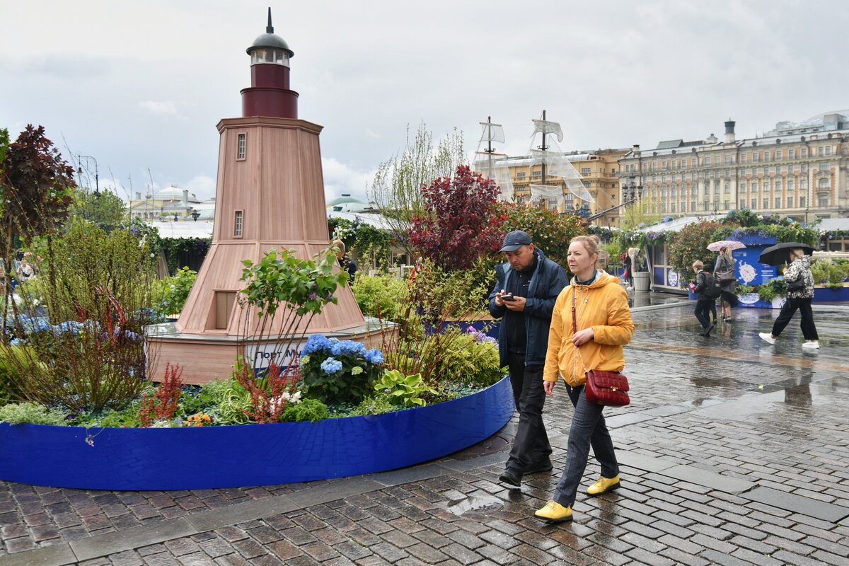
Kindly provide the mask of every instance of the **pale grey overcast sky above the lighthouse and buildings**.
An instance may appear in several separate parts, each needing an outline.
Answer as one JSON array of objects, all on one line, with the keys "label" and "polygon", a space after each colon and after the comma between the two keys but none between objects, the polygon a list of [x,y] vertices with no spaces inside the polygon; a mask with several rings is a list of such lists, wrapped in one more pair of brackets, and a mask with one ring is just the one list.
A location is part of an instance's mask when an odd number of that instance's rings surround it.
[{"label": "pale grey overcast sky above the lighthouse and buildings", "polygon": [[45,126],[125,199],[131,182],[214,196],[216,123],[241,113],[269,5],[299,115],[324,126],[328,199],[364,196],[420,121],[473,152],[492,115],[499,149],[525,154],[543,109],[571,150],[849,108],[844,0],[0,0],[0,127]]}]

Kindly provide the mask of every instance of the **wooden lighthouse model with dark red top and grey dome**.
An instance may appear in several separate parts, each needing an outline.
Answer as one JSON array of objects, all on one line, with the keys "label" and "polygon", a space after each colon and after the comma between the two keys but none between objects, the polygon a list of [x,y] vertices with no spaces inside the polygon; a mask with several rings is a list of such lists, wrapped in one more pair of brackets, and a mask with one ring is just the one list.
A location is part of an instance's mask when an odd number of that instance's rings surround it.
[{"label": "wooden lighthouse model with dark red top and grey dome", "polygon": [[[243,260],[256,263],[270,249],[294,249],[309,259],[329,245],[318,143],[322,126],[298,119],[298,93],[290,89],[294,53],[274,34],[271,8],[266,33],[247,51],[250,88],[241,92],[242,117],[217,125],[221,145],[211,248],[176,332],[160,330],[150,338],[159,347],[157,373],[166,361],[180,363],[187,383],[224,378],[232,371],[239,351]],[[351,289],[338,289],[336,296],[338,304],[313,317],[307,332],[366,338],[367,325]],[[256,313],[250,317],[255,323]],[[261,347],[258,338],[247,344],[249,350]]]}]

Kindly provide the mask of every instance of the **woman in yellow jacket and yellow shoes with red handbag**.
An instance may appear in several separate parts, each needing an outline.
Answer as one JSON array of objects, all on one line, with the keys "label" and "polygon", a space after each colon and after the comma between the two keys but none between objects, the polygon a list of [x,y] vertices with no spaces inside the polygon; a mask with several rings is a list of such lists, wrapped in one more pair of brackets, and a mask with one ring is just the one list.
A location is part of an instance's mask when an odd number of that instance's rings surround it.
[{"label": "woman in yellow jacket and yellow shoes with red handbag", "polygon": [[[585,373],[590,369],[621,372],[625,367],[622,346],[631,341],[634,325],[628,297],[619,279],[596,268],[598,236],[577,236],[569,244],[569,271],[575,277],[554,303],[548,353],[543,380],[545,392],[554,395],[558,373],[575,406],[566,451],[566,468],[560,476],[554,499],[534,513],[549,523],[571,521],[572,505],[584,470],[589,448],[601,464],[601,477],[589,487],[589,496],[600,496],[619,487],[619,464],[613,441],[601,414],[603,406],[587,401]],[[574,301],[574,302],[573,302]],[[572,332],[572,305],[577,332]]]}]

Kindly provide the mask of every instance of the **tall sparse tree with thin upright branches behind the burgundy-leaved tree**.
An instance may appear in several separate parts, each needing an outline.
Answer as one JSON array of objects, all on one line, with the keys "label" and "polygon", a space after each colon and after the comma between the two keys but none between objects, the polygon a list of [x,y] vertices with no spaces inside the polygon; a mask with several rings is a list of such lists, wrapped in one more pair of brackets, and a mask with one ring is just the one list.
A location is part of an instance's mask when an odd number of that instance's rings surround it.
[{"label": "tall sparse tree with thin upright branches behind the burgundy-leaved tree", "polygon": [[448,177],[458,165],[466,162],[463,134],[454,130],[434,143],[433,134],[419,124],[413,140],[407,130],[407,147],[400,156],[378,166],[368,198],[386,217],[398,244],[413,255],[413,244],[406,238],[408,227],[416,216],[424,216],[421,189],[437,177]]}]

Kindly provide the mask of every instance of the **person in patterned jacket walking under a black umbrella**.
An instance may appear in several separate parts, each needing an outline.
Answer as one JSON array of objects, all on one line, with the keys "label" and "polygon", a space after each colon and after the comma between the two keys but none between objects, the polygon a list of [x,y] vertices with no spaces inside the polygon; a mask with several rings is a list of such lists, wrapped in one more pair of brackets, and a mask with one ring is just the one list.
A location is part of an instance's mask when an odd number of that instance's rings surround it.
[{"label": "person in patterned jacket walking under a black umbrella", "polygon": [[796,311],[801,311],[801,333],[805,343],[801,345],[806,350],[819,348],[817,327],[813,323],[813,274],[811,273],[811,258],[813,248],[798,242],[775,244],[763,250],[758,261],[771,266],[790,263],[784,266],[784,281],[787,283],[787,300],[781,307],[779,317],[773,322],[772,333],[758,333],[769,344],[775,344],[781,331],[793,318]]}]

